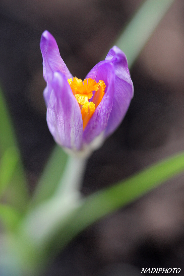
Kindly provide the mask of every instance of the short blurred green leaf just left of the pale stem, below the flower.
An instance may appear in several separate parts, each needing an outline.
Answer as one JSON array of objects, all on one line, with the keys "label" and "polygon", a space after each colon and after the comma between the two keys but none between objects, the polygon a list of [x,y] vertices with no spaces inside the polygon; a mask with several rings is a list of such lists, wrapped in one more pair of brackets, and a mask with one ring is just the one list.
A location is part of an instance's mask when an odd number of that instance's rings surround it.
[{"label": "short blurred green leaf just left of the pale stem, below the flower", "polygon": [[56,190],[67,161],[67,154],[61,147],[55,146],[38,182],[30,206],[47,200]]}]

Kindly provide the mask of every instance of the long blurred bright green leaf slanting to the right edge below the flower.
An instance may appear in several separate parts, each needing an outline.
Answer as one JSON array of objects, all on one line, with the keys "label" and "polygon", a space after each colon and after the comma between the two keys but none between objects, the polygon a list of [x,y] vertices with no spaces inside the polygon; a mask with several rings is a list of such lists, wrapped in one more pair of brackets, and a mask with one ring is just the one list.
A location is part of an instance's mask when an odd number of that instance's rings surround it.
[{"label": "long blurred bright green leaf slanting to the right edge below the flower", "polygon": [[102,217],[122,208],[184,171],[184,152],[138,172],[112,187],[103,189],[83,200],[61,227],[52,245],[61,250],[78,233]]}]

